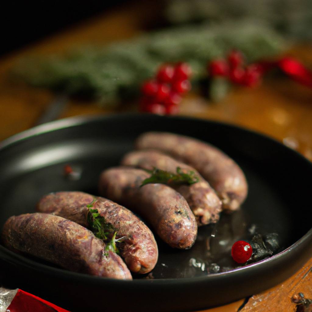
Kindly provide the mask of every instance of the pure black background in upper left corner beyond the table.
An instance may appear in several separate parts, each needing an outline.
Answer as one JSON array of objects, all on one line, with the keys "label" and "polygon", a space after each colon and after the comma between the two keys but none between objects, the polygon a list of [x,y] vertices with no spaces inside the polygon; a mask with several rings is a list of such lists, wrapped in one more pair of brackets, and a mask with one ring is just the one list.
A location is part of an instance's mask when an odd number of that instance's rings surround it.
[{"label": "pure black background in upper left corner beyond the table", "polygon": [[0,55],[40,40],[129,0],[2,1]]}]

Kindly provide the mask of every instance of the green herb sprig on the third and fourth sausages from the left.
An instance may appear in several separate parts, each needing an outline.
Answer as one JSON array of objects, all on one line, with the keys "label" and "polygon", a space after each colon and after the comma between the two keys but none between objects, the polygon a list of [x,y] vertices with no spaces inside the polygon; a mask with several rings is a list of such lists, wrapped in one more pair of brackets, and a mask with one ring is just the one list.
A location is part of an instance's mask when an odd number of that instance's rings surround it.
[{"label": "green herb sprig on the third and fourth sausages from the left", "polygon": [[152,171],[148,171],[152,175],[146,178],[141,186],[148,183],[163,183],[163,184],[188,184],[197,183],[199,178],[194,171],[183,173],[180,167],[177,167],[177,173],[170,173],[168,171],[154,168]]}]

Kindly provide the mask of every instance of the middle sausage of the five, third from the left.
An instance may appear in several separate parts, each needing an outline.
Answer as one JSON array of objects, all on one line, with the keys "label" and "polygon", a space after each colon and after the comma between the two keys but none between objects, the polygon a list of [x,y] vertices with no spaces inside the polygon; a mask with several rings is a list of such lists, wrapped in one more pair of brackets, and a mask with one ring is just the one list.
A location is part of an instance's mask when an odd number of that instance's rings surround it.
[{"label": "middle sausage of the five, third from the left", "polygon": [[110,168],[100,175],[100,194],[127,204],[154,227],[163,241],[173,248],[188,249],[195,242],[195,217],[181,194],[164,184],[146,184],[149,174],[135,168]]}]

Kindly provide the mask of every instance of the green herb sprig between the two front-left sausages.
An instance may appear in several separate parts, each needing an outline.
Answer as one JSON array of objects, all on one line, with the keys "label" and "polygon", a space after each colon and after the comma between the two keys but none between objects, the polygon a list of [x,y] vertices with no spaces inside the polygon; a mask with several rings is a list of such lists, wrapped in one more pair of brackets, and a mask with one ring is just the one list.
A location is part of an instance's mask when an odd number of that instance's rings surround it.
[{"label": "green herb sprig between the two front-left sausages", "polygon": [[[119,250],[116,246],[116,242],[120,241],[123,237],[116,239],[117,231],[115,227],[109,222],[106,222],[105,218],[100,215],[97,209],[92,209],[96,198],[87,205],[89,209],[88,213],[88,223],[93,234],[106,242],[104,255],[108,256],[108,251],[113,251],[119,254]],[[111,238],[110,238],[111,237]]]}]

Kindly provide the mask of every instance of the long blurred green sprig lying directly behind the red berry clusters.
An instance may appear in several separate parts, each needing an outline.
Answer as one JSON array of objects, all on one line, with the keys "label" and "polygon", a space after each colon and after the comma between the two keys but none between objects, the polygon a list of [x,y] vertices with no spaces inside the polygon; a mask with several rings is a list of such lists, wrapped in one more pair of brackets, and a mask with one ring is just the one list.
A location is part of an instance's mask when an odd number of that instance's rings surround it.
[{"label": "long blurred green sprig lying directly behind the red berry clusters", "polygon": [[15,77],[31,85],[86,95],[102,105],[134,97],[140,84],[154,76],[163,62],[186,61],[193,69],[192,83],[207,76],[209,60],[241,50],[248,61],[278,54],[282,38],[251,22],[197,25],[163,30],[104,47],[76,49],[66,56],[23,60]]}]

